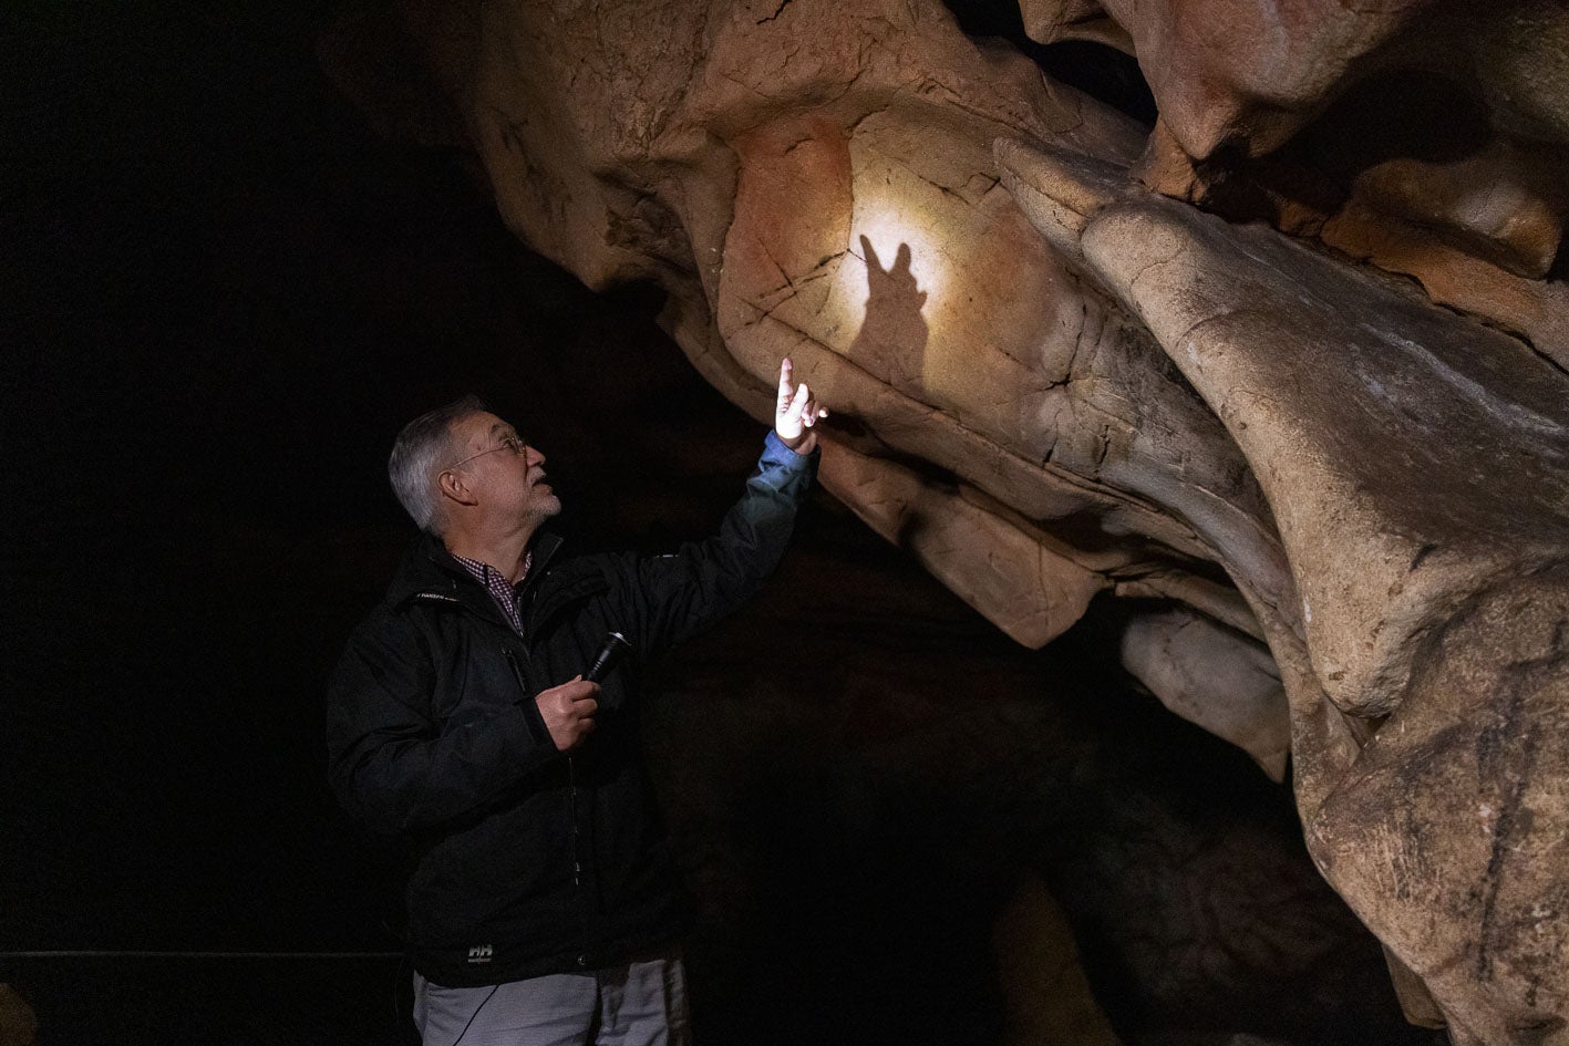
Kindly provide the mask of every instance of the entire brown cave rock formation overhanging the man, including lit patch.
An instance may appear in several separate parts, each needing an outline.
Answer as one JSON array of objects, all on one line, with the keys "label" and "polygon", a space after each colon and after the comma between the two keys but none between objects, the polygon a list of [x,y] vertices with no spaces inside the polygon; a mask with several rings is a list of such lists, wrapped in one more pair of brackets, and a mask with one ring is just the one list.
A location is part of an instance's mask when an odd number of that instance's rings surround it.
[{"label": "entire brown cave rock formation overhanging the man, including lit patch", "polygon": [[1021,8],[1155,127],[935,0],[405,0],[417,61],[325,49],[736,403],[792,356],[824,485],[1010,637],[1153,607],[1127,665],[1290,759],[1407,1016],[1569,1043],[1569,14]]}]

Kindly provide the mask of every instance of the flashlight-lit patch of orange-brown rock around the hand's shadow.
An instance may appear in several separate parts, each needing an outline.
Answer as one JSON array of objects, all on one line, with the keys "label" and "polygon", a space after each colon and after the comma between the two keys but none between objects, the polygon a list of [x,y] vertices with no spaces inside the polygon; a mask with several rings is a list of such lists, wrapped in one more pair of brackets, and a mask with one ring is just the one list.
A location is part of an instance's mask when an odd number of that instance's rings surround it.
[{"label": "flashlight-lit patch of orange-brown rock around the hand's shadow", "polygon": [[[871,378],[1007,445],[1048,447],[1061,367],[1045,364],[1072,358],[1083,303],[998,188],[990,141],[929,138],[893,113],[847,146],[847,162],[808,146],[758,177],[767,191],[745,198],[726,248],[745,306],[725,336],[759,373],[800,340],[852,364],[813,369],[830,409],[880,409],[863,398]],[[792,179],[800,198],[783,199]]]}]

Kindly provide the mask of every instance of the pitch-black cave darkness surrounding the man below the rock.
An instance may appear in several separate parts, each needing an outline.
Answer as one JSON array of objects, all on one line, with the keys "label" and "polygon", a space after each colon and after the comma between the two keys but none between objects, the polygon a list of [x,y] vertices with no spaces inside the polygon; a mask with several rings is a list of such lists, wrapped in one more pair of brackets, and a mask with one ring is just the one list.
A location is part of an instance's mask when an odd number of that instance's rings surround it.
[{"label": "pitch-black cave darkness surrounding the man below the rock", "polygon": [[[399,947],[322,693],[411,538],[408,417],[486,397],[579,547],[701,533],[763,434],[656,290],[588,293],[460,155],[375,138],[312,53],[333,8],[0,13],[0,982],[39,1043],[408,1038],[395,958],[320,957]],[[1426,1041],[1285,790],[1134,693],[1112,618],[1020,651],[808,507],[654,721],[700,1043],[1001,1041],[1031,883],[1130,1041]],[[28,955],[71,950],[315,958]]]}]

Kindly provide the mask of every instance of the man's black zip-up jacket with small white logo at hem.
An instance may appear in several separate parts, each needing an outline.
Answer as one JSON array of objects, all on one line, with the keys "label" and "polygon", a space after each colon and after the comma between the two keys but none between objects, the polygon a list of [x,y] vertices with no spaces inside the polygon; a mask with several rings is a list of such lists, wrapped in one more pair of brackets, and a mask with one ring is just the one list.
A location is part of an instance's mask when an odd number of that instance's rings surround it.
[{"label": "man's black zip-up jacket with small white logo at hem", "polygon": [[[720,532],[664,557],[560,555],[541,535],[518,635],[424,536],[359,624],[328,693],[329,776],[372,830],[414,842],[408,938],[447,986],[596,968],[668,944],[683,892],[639,745],[643,663],[730,613],[775,568],[816,472],[772,433]],[[631,640],[571,759],[535,695]]]}]

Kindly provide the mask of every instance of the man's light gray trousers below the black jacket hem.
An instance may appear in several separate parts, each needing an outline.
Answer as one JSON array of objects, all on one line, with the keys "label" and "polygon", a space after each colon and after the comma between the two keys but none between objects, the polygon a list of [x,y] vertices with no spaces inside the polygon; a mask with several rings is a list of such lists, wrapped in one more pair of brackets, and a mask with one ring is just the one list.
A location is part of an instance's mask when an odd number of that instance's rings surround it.
[{"label": "man's light gray trousers below the black jacket hem", "polygon": [[690,1046],[678,955],[485,988],[414,974],[424,1046]]}]

